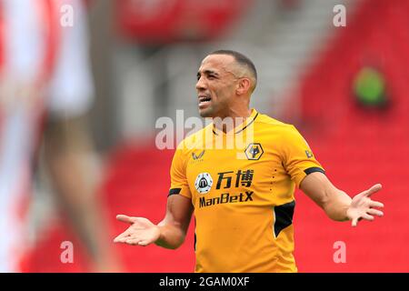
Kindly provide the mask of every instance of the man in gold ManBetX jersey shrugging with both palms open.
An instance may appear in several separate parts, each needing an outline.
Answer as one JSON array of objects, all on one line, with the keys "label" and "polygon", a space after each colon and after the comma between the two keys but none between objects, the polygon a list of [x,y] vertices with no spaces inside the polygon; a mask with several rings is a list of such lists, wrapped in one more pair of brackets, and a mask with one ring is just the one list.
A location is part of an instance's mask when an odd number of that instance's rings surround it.
[{"label": "man in gold ManBetX jersey shrugging with both palms open", "polygon": [[176,248],[195,213],[195,272],[296,272],[294,188],[335,221],[374,220],[383,204],[377,184],[351,198],[324,175],[293,125],[249,107],[257,82],[253,62],[228,50],[207,55],[197,73],[199,113],[212,123],[177,147],[165,218],[143,217],[115,242]]}]

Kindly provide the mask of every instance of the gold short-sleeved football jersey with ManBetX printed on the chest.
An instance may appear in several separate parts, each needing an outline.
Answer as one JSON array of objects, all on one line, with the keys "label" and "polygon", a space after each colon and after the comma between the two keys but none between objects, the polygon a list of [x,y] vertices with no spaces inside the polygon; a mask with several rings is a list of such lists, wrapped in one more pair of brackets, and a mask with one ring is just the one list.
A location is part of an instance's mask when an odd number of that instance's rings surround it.
[{"label": "gold short-sleeved football jersey with ManBetX printed on the chest", "polygon": [[316,171],[295,127],[255,109],[228,133],[211,124],[186,137],[169,195],[195,207],[195,272],[296,272],[294,188]]}]

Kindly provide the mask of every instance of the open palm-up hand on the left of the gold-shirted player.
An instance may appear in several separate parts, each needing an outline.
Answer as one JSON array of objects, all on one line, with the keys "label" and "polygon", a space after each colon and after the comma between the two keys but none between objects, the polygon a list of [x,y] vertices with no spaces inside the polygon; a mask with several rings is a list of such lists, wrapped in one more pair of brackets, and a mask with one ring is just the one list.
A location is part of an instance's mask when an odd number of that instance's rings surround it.
[{"label": "open palm-up hand on the left of the gold-shirted player", "polygon": [[124,243],[132,246],[148,246],[160,236],[160,229],[149,219],[144,217],[116,216],[119,221],[131,224],[125,232],[116,236],[115,243]]}]

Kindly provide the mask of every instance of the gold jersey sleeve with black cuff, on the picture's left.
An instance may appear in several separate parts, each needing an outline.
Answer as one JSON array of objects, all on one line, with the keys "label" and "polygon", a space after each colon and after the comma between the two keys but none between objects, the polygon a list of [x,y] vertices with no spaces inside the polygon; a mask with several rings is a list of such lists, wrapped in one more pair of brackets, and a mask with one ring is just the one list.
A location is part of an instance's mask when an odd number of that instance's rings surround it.
[{"label": "gold jersey sleeve with black cuff, on the picture's left", "polygon": [[186,162],[184,150],[180,147],[176,148],[170,169],[171,186],[169,196],[178,194],[187,198],[192,197],[187,183]]}]

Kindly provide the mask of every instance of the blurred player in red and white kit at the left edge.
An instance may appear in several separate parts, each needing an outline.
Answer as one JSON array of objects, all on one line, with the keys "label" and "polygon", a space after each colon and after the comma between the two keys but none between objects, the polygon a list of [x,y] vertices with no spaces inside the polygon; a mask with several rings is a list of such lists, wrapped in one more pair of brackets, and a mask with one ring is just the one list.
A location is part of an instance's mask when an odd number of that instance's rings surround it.
[{"label": "blurred player in red and white kit at the left edge", "polygon": [[[62,5],[73,8],[73,25],[62,25]],[[33,190],[41,145],[90,270],[117,269],[85,121],[94,94],[85,9],[82,0],[0,1],[0,272],[18,272],[26,250],[21,206]]]}]

